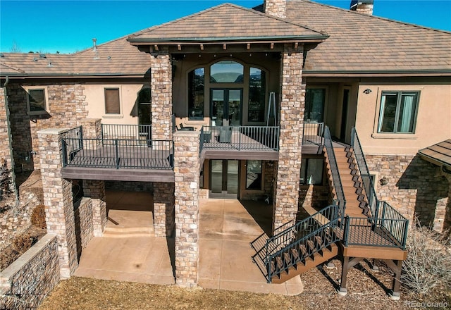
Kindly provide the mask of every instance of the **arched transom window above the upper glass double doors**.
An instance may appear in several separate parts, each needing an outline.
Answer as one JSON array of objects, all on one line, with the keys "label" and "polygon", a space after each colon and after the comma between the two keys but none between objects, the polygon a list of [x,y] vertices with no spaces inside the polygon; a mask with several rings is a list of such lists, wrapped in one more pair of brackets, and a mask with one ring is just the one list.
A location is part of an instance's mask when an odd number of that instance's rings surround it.
[{"label": "arched transom window above the upper glass double doors", "polygon": [[210,67],[211,83],[242,83],[245,67],[236,61],[218,61]]}]

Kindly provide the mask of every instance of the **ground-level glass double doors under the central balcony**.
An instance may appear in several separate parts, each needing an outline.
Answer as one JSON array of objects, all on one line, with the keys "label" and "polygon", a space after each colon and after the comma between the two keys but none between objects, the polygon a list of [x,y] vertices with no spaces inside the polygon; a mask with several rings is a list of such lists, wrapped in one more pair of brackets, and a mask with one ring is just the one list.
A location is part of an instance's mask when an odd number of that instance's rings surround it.
[{"label": "ground-level glass double doors under the central balcony", "polygon": [[211,198],[236,199],[238,196],[239,162],[226,159],[210,161]]}]

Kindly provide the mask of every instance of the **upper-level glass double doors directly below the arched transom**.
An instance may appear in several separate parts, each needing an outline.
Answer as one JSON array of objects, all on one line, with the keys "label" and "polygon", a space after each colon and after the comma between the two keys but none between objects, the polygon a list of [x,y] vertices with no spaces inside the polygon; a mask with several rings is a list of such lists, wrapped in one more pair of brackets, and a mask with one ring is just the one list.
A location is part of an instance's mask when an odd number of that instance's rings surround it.
[{"label": "upper-level glass double doors directly below the arched transom", "polygon": [[211,125],[241,125],[242,89],[211,89]]}]

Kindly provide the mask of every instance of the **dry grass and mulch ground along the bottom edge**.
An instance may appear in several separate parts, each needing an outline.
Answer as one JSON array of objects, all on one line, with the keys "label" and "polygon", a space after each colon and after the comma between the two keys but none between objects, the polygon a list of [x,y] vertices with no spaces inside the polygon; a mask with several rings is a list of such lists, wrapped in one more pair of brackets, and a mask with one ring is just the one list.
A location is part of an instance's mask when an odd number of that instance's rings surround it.
[{"label": "dry grass and mulch ground along the bottom edge", "polygon": [[[393,301],[385,290],[391,287],[388,269],[371,271],[362,262],[349,271],[348,294],[335,292],[340,278],[340,262],[334,268],[312,269],[302,274],[304,292],[297,296],[253,294],[224,290],[185,290],[176,286],[147,285],[73,277],[62,281],[39,310],[61,309],[412,309],[410,301],[447,302],[451,309],[451,292],[436,291],[426,297],[402,292],[401,300]],[[416,307],[421,308],[421,307]],[[424,309],[424,307],[423,307]]]}]

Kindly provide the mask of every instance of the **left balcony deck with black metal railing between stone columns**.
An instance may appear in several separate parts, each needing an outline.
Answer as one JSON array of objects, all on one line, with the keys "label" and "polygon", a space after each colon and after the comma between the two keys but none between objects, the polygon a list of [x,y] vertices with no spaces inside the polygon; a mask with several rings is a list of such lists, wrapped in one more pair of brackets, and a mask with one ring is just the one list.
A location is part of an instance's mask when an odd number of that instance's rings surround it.
[{"label": "left balcony deck with black metal railing between stone columns", "polygon": [[173,142],[63,139],[63,177],[174,182]]}]

